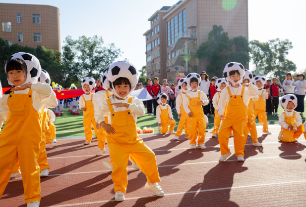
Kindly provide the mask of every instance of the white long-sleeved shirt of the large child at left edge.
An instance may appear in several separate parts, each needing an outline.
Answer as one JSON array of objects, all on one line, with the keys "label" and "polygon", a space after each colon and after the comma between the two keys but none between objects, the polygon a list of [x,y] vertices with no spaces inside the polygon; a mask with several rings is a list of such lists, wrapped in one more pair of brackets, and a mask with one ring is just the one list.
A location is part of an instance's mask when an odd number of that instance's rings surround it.
[{"label": "white long-sleeved shirt of the large child at left edge", "polygon": [[[14,91],[14,94],[27,94],[29,93],[30,88],[25,90]],[[31,85],[32,92],[32,105],[33,108],[41,113],[45,108],[46,103],[49,100],[49,97],[52,93],[52,88],[48,83],[32,83]],[[0,99],[0,122],[6,121],[9,110],[7,105],[7,99],[9,94],[4,94]]]}]

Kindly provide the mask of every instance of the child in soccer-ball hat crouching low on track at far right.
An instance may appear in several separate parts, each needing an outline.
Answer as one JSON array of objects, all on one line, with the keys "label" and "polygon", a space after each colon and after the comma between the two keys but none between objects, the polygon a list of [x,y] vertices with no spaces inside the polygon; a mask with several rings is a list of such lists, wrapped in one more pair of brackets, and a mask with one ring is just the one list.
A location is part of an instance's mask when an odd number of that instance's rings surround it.
[{"label": "child in soccer-ball hat crouching low on track at far right", "polygon": [[[292,94],[284,95],[281,99],[281,106],[285,111],[279,117],[279,125],[282,129],[279,132],[278,140],[283,142],[297,142],[303,133],[302,117],[298,112],[294,111],[298,106],[298,99]],[[295,126],[292,121],[296,122]]]}]

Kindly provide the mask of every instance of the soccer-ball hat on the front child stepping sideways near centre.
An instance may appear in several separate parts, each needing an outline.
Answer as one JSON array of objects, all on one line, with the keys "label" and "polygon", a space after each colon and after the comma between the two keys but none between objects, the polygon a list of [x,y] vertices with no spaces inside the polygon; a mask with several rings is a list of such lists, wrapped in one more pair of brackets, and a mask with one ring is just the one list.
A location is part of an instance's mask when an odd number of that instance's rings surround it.
[{"label": "soccer-ball hat on the front child stepping sideways near centre", "polygon": [[135,87],[138,83],[138,79],[139,79],[138,71],[133,66],[133,64],[131,64],[128,61],[114,62],[110,66],[110,69],[109,69],[109,71],[107,73],[107,77],[106,77],[109,80],[109,83],[110,83],[109,86],[110,86],[111,89],[114,88],[113,82],[116,81],[116,79],[121,78],[121,77],[127,78],[129,80],[129,82],[131,84],[131,88],[130,88],[129,93],[127,93],[125,97],[121,97],[117,94],[116,90],[112,90],[112,92],[117,97],[127,98],[129,96],[129,94],[135,89]]}]

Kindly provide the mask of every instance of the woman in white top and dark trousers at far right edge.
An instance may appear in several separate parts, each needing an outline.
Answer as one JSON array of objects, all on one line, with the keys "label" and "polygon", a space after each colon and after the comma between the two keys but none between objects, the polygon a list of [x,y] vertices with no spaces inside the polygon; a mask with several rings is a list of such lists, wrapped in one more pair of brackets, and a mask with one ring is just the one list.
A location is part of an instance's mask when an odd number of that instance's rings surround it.
[{"label": "woman in white top and dark trousers at far right edge", "polygon": [[305,87],[306,81],[304,73],[300,73],[298,77],[294,78],[294,82],[292,85],[296,86],[296,97],[298,98],[298,107],[295,111],[300,112],[301,116],[303,116],[304,112],[304,98],[305,98]]}]

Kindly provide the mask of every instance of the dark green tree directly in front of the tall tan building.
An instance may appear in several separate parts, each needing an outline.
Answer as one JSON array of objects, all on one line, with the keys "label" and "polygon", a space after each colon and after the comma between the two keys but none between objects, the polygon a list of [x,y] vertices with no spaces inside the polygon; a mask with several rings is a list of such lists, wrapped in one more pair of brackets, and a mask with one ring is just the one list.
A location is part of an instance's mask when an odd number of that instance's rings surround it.
[{"label": "dark green tree directly in front of the tall tan building", "polygon": [[242,36],[230,40],[221,25],[214,25],[208,34],[208,41],[203,42],[196,51],[196,57],[198,59],[206,57],[210,61],[206,67],[210,77],[222,77],[223,69],[229,62],[239,62],[247,69],[248,42]]}]

